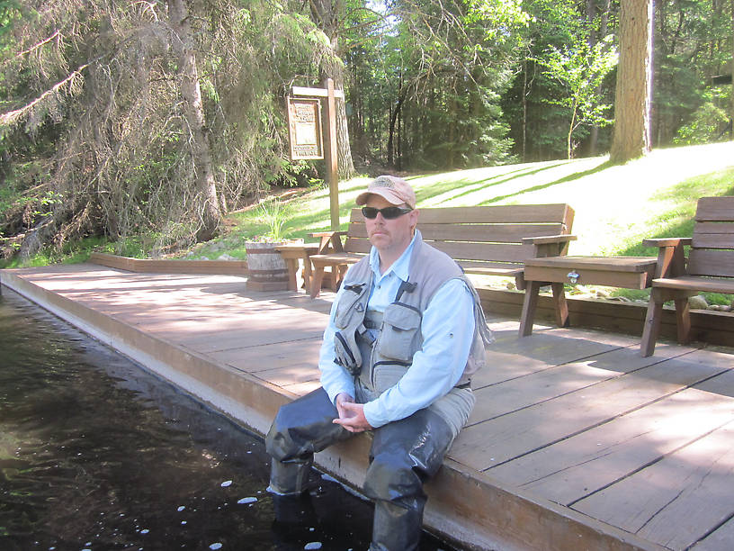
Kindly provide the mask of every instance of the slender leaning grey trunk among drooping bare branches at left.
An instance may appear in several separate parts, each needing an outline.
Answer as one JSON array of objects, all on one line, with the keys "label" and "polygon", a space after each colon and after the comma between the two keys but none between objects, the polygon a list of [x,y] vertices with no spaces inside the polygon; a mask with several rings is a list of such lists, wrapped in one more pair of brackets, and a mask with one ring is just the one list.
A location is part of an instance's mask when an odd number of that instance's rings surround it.
[{"label": "slender leaning grey trunk among drooping bare branches at left", "polygon": [[201,228],[197,231],[197,238],[209,240],[219,230],[222,215],[211,164],[209,139],[204,131],[204,109],[193,50],[193,33],[184,0],[168,0],[168,18],[173,31],[173,48],[178,58],[179,86],[183,101],[183,133],[188,134],[188,140],[191,141],[193,167],[196,171],[196,191],[202,203]]}]

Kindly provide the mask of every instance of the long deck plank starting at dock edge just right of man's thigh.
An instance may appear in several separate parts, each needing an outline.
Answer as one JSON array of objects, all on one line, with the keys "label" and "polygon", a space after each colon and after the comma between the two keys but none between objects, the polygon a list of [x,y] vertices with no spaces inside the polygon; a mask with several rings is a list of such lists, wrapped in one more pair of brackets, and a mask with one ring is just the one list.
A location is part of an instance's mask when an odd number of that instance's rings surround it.
[{"label": "long deck plank starting at dock edge just right of man's thigh", "polygon": [[452,458],[488,470],[609,422],[720,371],[715,366],[679,359],[645,367],[467,427],[452,447]]}]

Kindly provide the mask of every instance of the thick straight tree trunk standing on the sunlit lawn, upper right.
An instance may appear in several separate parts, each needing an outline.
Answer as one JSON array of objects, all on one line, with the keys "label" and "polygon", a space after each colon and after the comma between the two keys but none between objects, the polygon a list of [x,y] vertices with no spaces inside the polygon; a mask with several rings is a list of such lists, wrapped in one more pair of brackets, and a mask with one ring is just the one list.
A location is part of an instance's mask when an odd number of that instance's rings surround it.
[{"label": "thick straight tree trunk standing on the sunlit lawn, upper right", "polygon": [[620,59],[610,159],[623,163],[650,150],[652,0],[622,0]]}]

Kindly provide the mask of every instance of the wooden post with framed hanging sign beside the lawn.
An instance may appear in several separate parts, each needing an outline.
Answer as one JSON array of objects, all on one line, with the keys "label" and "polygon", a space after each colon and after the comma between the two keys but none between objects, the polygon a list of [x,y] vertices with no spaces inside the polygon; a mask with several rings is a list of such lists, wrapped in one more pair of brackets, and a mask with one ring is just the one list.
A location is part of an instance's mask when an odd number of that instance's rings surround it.
[{"label": "wooden post with framed hanging sign beside the lawn", "polygon": [[[331,229],[339,230],[339,172],[336,142],[336,98],[344,99],[343,90],[334,89],[327,78],[324,88],[293,86],[288,98],[288,126],[291,159],[323,158],[327,165]],[[321,99],[326,100],[321,108]],[[323,128],[323,130],[322,130]],[[325,143],[322,146],[322,132]]]}]

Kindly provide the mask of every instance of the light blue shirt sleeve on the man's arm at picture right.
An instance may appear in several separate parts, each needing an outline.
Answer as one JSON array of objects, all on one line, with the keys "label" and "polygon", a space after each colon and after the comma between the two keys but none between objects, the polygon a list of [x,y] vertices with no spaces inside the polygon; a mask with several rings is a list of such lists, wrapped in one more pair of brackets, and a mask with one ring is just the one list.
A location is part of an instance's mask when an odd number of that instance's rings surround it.
[{"label": "light blue shirt sleeve on the man's arm at picture right", "polygon": [[425,408],[455,386],[466,367],[474,338],[474,299],[461,279],[451,279],[423,313],[423,348],[398,384],[364,404],[375,429]]}]

